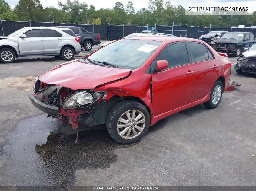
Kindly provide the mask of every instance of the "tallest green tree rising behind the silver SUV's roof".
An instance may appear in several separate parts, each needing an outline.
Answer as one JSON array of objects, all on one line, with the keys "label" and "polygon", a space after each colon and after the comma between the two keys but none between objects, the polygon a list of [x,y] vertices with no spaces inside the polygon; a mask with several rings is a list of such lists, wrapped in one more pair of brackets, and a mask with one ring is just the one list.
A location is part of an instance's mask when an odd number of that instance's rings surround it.
[{"label": "tallest green tree rising behind the silver SUV's roof", "polygon": [[18,5],[15,6],[13,12],[20,20],[46,20],[45,10],[39,0],[19,0]]}]

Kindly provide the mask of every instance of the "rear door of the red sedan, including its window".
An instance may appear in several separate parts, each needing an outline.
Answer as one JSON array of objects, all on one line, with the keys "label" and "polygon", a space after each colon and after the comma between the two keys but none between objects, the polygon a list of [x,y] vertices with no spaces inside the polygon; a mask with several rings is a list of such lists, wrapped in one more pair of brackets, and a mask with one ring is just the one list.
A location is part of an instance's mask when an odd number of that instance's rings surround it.
[{"label": "rear door of the red sedan, including its window", "polygon": [[194,87],[190,102],[203,99],[216,80],[221,65],[214,59],[211,51],[201,43],[187,42],[194,68]]}]

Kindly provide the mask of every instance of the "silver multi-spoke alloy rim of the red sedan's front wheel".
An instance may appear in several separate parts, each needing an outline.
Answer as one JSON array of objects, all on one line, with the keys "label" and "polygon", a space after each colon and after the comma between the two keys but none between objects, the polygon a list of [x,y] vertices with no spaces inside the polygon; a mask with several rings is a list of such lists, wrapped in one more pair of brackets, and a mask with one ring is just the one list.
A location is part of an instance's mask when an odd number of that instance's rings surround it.
[{"label": "silver multi-spoke alloy rim of the red sedan's front wheel", "polygon": [[132,139],[144,130],[146,119],[139,110],[128,110],[121,115],[117,123],[118,134],[125,139]]}]

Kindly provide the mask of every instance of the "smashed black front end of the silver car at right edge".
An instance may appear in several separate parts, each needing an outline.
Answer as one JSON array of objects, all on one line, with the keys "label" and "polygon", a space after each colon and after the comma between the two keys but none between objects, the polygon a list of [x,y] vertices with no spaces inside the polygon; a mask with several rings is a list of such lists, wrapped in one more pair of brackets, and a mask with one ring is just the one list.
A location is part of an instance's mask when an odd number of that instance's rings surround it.
[{"label": "smashed black front end of the silver car at right edge", "polygon": [[241,55],[237,60],[237,64],[234,65],[234,69],[241,69],[242,72],[256,74],[256,55],[255,57],[245,57]]}]

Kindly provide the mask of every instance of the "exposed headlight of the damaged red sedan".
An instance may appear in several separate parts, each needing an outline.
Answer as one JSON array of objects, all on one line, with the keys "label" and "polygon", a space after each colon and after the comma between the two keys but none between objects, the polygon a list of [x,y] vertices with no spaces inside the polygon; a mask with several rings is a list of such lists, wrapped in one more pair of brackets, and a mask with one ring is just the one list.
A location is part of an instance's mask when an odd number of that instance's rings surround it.
[{"label": "exposed headlight of the damaged red sedan", "polygon": [[[105,92],[103,92],[105,93]],[[68,97],[63,105],[63,109],[71,109],[71,108],[77,108],[81,106],[86,106],[89,103],[93,103],[96,100],[98,100],[101,96],[103,97],[102,92],[88,92],[88,91],[80,91],[77,92],[70,97]],[[102,95],[101,95],[102,94]]]}]

